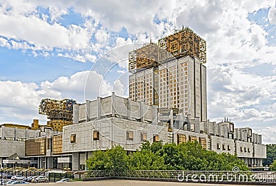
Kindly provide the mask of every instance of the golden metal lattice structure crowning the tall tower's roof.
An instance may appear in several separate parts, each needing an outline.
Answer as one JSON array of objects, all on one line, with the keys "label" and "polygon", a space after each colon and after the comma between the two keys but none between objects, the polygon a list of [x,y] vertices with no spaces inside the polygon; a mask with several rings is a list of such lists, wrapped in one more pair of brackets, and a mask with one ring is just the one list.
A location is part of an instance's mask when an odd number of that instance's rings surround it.
[{"label": "golden metal lattice structure crowning the tall tower's roof", "polygon": [[206,41],[190,28],[182,28],[173,35],[159,39],[158,44],[146,44],[128,55],[128,70],[132,73],[141,68],[158,66],[170,57],[198,57],[206,63]]}]

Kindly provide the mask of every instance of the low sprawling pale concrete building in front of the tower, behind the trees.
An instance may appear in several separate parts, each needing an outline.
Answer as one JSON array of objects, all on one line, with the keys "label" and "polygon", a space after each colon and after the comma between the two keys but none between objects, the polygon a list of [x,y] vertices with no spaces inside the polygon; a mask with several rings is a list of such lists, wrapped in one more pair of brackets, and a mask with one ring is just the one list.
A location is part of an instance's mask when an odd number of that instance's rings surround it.
[{"label": "low sprawling pale concrete building in front of the tower, behind the trees", "polygon": [[[262,167],[266,146],[262,145],[258,134],[252,133],[252,129],[235,129],[233,122],[200,122],[199,118],[190,119],[183,114],[174,114],[173,110],[169,113],[160,114],[155,105],[135,102],[114,93],[84,104],[75,104],[74,124],[63,127],[58,148],[54,145],[55,135],[52,137],[49,156],[41,156],[39,161],[47,162],[47,168],[54,167],[54,161],[49,161],[52,150],[52,156],[57,158],[60,168],[86,169],[86,160],[93,151],[110,149],[112,145],[136,151],[146,140],[176,144],[197,140],[210,151],[237,154],[248,167]],[[168,123],[173,123],[172,129]],[[237,133],[244,138],[237,138]],[[253,136],[254,140],[248,140]],[[45,148],[47,146],[45,144]],[[59,154],[54,154],[57,151],[55,148],[59,149]]]}]

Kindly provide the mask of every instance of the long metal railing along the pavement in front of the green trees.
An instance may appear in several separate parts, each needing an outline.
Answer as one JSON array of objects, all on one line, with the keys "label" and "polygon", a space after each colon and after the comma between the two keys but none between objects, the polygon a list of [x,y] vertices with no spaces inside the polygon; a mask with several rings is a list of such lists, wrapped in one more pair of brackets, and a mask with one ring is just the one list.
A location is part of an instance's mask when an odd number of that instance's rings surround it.
[{"label": "long metal railing along the pavement in front of the green trees", "polygon": [[179,182],[258,182],[276,184],[276,173],[268,171],[93,170],[86,171],[85,176],[86,178],[146,178],[147,180],[175,180]]}]

